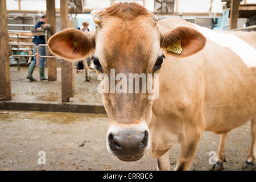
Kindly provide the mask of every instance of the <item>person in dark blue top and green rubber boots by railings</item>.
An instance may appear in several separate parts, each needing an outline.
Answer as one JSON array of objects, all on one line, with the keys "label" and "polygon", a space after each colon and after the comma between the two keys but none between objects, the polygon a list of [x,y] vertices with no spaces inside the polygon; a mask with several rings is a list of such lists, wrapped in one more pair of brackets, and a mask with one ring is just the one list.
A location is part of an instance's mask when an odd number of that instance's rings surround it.
[{"label": "person in dark blue top and green rubber boots by railings", "polygon": [[[42,18],[38,23],[36,23],[34,29],[38,28],[47,28],[49,27],[47,24],[47,18],[46,15],[42,15]],[[46,44],[46,39],[44,38],[44,35],[34,36],[33,43],[38,46],[39,44]],[[33,54],[36,53],[36,48],[33,48]],[[46,56],[46,47],[39,47],[39,54],[42,56]],[[39,59],[36,59],[38,55],[34,57],[34,59],[31,61],[30,66],[28,67],[28,75],[27,78],[30,81],[35,81],[36,79],[32,77],[32,73],[34,72],[34,69],[39,64],[39,73],[40,73],[40,80],[47,80],[48,78],[44,76],[44,65],[46,64],[46,59],[43,57],[40,57]],[[39,63],[38,63],[39,60]]]}]

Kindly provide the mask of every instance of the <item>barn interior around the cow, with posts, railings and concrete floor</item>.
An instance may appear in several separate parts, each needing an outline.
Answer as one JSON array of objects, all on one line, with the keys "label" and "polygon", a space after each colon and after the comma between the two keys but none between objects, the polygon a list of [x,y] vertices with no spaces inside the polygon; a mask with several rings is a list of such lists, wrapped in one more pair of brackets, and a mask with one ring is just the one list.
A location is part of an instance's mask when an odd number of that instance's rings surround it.
[{"label": "barn interior around the cow, with posts, railings and concrete floor", "polygon": [[[105,147],[108,116],[97,92],[100,80],[93,65],[88,64],[90,76],[86,70],[79,72],[78,61],[52,55],[46,43],[39,45],[46,47],[46,56],[39,54],[38,59],[46,58],[48,80],[40,80],[39,67],[34,71],[36,81],[26,78],[36,56],[33,48],[39,53],[35,36],[44,36],[47,42],[65,28],[82,26],[84,20],[93,31],[94,11],[119,2],[137,2],[159,20],[181,18],[217,31],[256,30],[255,0],[0,1],[0,170],[156,170],[148,154],[125,165],[109,158]],[[44,14],[49,28],[35,30]],[[247,123],[230,134],[227,153],[233,155],[226,164],[228,170],[241,169],[247,153],[244,148],[250,144],[243,141],[250,139],[249,131]],[[79,137],[72,138],[75,134]],[[217,135],[204,133],[193,170],[209,170],[208,152],[217,150],[218,141]],[[46,165],[38,164],[42,150],[49,156]],[[179,146],[172,148],[172,154],[173,169]]]}]

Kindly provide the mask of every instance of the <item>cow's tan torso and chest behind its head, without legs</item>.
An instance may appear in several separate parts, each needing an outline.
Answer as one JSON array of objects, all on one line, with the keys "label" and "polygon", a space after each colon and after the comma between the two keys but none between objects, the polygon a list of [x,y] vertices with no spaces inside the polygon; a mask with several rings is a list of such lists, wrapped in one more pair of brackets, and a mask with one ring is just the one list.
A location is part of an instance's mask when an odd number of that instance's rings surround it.
[{"label": "cow's tan torso and chest behind its head, without legs", "polygon": [[[164,31],[179,26],[200,29],[181,19],[159,21],[159,27]],[[247,52],[244,52],[248,55],[247,60],[242,60],[229,47],[222,47],[210,39],[207,39],[205,48],[195,55],[183,59],[166,57],[159,73],[159,98],[152,106],[154,117],[150,125],[150,154],[154,158],[159,158],[172,144],[180,142],[186,122],[184,118],[189,119],[189,125],[197,125],[199,130],[226,134],[255,116],[256,56],[251,48],[256,48],[256,33],[218,34],[234,35],[247,43]],[[236,44],[236,40],[230,43]],[[195,115],[203,115],[203,123],[194,120]]]}]

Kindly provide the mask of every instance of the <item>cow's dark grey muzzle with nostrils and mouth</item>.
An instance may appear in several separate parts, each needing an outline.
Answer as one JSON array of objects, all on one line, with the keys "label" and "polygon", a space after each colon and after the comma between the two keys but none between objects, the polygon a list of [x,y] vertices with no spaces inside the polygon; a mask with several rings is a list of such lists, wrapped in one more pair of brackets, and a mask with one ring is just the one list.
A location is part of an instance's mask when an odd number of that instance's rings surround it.
[{"label": "cow's dark grey muzzle with nostrils and mouth", "polygon": [[148,143],[148,132],[122,131],[108,136],[110,150],[118,159],[136,161],[142,158]]}]

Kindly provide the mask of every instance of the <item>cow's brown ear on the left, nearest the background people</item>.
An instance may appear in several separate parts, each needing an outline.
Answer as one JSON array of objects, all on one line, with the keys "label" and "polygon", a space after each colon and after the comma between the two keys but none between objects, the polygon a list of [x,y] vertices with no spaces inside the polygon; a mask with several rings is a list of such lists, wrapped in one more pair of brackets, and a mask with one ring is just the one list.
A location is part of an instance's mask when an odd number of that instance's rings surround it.
[{"label": "cow's brown ear on the left, nearest the background people", "polygon": [[63,59],[82,60],[95,48],[93,34],[75,28],[67,28],[48,40],[51,52]]}]

